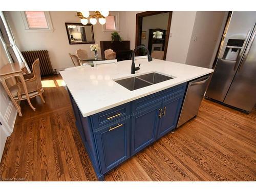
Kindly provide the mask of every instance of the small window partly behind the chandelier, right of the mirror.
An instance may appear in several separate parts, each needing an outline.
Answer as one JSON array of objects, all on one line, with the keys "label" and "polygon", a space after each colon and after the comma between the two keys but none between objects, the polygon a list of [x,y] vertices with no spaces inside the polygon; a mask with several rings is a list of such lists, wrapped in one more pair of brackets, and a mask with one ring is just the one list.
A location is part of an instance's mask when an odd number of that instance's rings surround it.
[{"label": "small window partly behind the chandelier, right of the mirror", "polygon": [[103,25],[104,32],[119,31],[119,14],[118,12],[111,12],[109,16],[106,17],[106,23]]}]

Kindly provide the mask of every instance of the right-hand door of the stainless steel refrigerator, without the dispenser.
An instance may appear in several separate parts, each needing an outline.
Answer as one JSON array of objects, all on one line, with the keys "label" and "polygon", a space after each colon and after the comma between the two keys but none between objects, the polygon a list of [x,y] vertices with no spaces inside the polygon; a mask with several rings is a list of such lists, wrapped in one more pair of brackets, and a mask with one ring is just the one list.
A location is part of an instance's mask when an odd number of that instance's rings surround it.
[{"label": "right-hand door of the stainless steel refrigerator, without the dispenser", "polygon": [[[255,24],[256,25],[256,24]],[[256,102],[256,26],[224,103],[250,112]]]}]

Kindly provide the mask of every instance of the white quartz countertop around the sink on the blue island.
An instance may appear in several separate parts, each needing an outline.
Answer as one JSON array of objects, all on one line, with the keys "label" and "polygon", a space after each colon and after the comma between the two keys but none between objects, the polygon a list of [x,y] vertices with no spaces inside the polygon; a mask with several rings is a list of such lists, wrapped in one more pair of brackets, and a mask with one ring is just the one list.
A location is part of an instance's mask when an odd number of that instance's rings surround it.
[{"label": "white quartz countertop around the sink on the blue island", "polygon": [[[131,60],[119,61],[117,65],[106,64],[92,68],[60,71],[83,117],[87,117],[135,99],[177,86],[183,82],[212,73],[214,70],[181,63],[153,59],[135,61],[140,70],[131,74]],[[114,80],[157,72],[173,79],[152,86],[130,91]],[[113,80],[114,79],[114,80]]]}]

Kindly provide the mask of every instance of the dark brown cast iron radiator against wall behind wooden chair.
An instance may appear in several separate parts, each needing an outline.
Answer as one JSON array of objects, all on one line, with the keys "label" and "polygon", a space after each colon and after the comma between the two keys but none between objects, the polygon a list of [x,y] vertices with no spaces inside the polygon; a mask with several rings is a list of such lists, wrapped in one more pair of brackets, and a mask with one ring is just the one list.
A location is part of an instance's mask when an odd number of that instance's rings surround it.
[{"label": "dark brown cast iron radiator against wall behind wooden chair", "polygon": [[52,64],[47,50],[38,51],[22,51],[22,54],[28,63],[28,66],[32,72],[32,64],[35,59],[39,58],[41,76],[53,75]]}]

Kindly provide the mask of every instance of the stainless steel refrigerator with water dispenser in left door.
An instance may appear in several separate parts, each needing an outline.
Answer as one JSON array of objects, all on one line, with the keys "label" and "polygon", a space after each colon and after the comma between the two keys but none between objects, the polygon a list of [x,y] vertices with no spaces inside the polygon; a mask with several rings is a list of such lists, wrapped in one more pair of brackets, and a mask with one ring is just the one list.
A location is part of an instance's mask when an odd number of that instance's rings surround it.
[{"label": "stainless steel refrigerator with water dispenser in left door", "polygon": [[256,11],[234,11],[206,98],[250,112],[256,102]]}]

